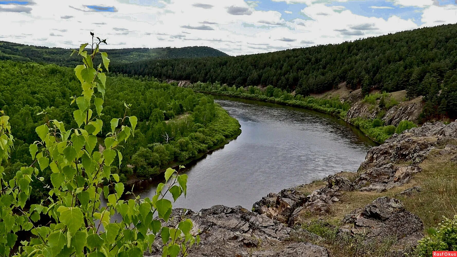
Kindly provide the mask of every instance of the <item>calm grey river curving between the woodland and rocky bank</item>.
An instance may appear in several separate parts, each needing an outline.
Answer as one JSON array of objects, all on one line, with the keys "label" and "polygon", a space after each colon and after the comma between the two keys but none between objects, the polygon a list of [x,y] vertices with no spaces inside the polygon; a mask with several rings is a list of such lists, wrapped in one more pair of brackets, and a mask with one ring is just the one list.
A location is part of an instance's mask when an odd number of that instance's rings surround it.
[{"label": "calm grey river curving between the woodland and rocky bank", "polygon": [[[331,115],[254,100],[214,96],[235,117],[241,135],[187,165],[187,196],[173,204],[194,211],[252,205],[270,192],[356,171],[374,146],[361,131]],[[161,181],[142,184],[142,198]],[[170,199],[170,198],[169,198]]]}]

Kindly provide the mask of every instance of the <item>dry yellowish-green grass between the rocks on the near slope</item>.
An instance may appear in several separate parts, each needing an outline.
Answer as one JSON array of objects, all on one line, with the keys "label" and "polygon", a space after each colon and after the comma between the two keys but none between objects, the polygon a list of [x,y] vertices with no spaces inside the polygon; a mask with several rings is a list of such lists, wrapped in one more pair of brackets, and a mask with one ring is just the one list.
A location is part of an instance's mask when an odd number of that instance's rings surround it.
[{"label": "dry yellowish-green grass between the rocks on the near slope", "polygon": [[[457,142],[441,142],[440,148],[444,148],[447,143],[457,144]],[[395,187],[383,193],[375,191],[361,192],[348,191],[340,196],[340,202],[334,203],[327,215],[310,214],[303,217],[301,226],[307,231],[314,233],[319,238],[312,235],[299,235],[291,238],[292,241],[310,241],[314,244],[329,249],[331,256],[334,257],[385,257],[392,250],[396,240],[386,238],[385,241],[377,244],[367,245],[362,243],[363,237],[341,237],[338,234],[340,226],[344,224],[341,220],[346,214],[357,208],[363,208],[378,197],[388,196],[400,199],[405,209],[419,216],[424,222],[425,237],[436,235],[436,226],[441,223],[443,216],[453,217],[456,215],[457,203],[457,163],[452,160],[454,155],[442,155],[441,149],[433,150],[429,156],[420,164],[423,170],[414,174],[408,184]],[[356,173],[339,173],[340,176],[353,181]],[[316,181],[307,185],[303,189],[304,193],[310,194],[314,189],[320,188],[322,181]],[[410,196],[400,196],[398,193],[405,189],[420,186],[422,191]],[[415,256],[415,255],[411,255]]]}]

